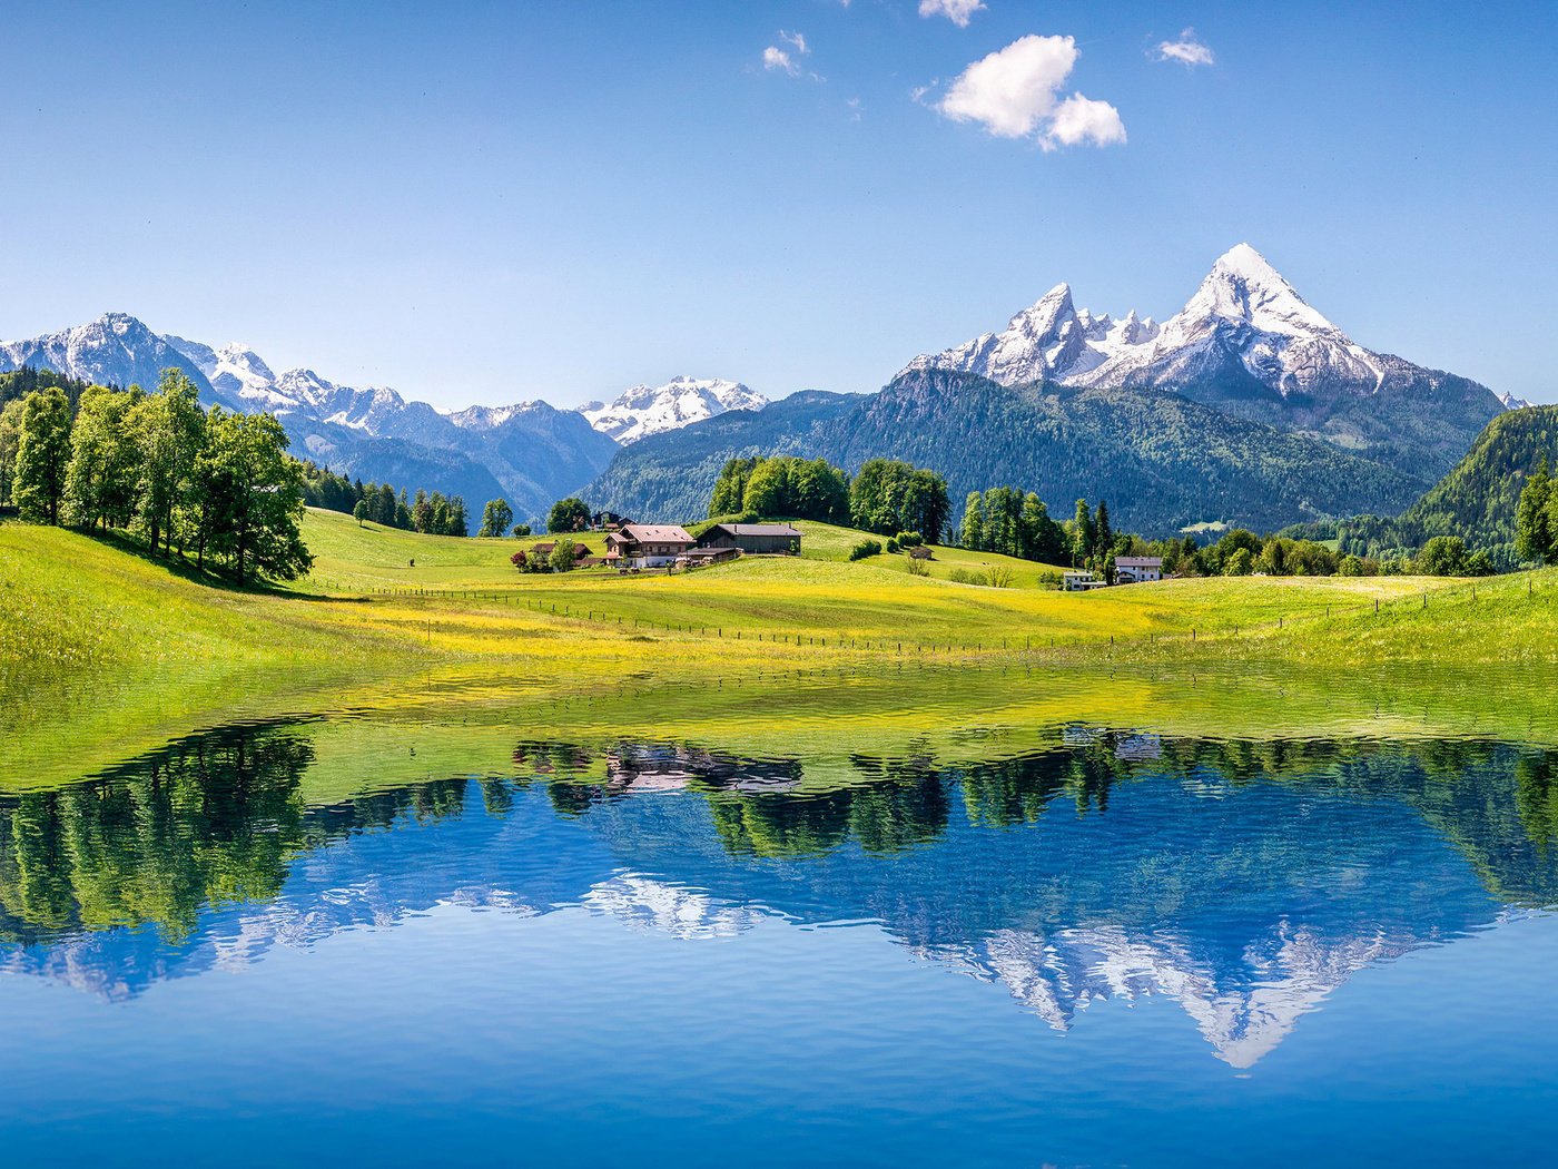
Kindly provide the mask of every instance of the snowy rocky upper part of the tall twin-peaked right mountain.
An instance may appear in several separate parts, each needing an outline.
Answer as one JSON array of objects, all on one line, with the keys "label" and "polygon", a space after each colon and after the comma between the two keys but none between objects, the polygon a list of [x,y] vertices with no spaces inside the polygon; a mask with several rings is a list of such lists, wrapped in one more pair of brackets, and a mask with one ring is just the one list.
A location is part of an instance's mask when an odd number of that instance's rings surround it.
[{"label": "snowy rocky upper part of the tall twin-peaked right mountain", "polygon": [[1056,285],[999,334],[905,373],[1002,385],[1164,390],[1281,430],[1313,433],[1407,474],[1443,474],[1511,405],[1477,382],[1357,344],[1248,243],[1229,249],[1162,324],[1077,309]]}]

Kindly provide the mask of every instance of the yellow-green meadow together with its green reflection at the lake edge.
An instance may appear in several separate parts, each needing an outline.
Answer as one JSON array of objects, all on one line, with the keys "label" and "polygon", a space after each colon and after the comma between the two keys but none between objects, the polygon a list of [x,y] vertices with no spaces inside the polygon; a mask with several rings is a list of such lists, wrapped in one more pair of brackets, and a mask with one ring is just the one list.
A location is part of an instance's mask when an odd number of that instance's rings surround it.
[{"label": "yellow-green meadow together with its green reflection at the lake edge", "polygon": [[[953,734],[992,711],[1003,726],[1112,712],[1186,734],[1337,719],[1493,733],[1544,722],[1538,680],[1558,662],[1558,570],[1067,594],[1039,586],[1045,566],[992,553],[938,547],[929,577],[902,555],[851,563],[862,533],[799,527],[799,558],[520,574],[509,555],[545,536],[310,511],[313,574],[235,589],[115,539],[3,524],[0,776],[56,782],[224,720],[315,711],[500,711],[562,737],[623,720],[696,737],[760,712],[753,751]],[[947,578],[992,566],[1010,588]]]}]

